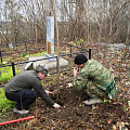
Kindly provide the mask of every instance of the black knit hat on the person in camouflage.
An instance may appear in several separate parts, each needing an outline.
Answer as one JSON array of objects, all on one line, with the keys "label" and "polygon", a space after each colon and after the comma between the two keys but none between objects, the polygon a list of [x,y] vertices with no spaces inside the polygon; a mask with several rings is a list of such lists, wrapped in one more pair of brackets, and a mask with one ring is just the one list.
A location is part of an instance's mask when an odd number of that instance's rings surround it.
[{"label": "black knit hat on the person in camouflage", "polygon": [[79,65],[79,64],[83,64],[88,61],[87,56],[84,54],[78,54],[75,57],[75,64]]}]

